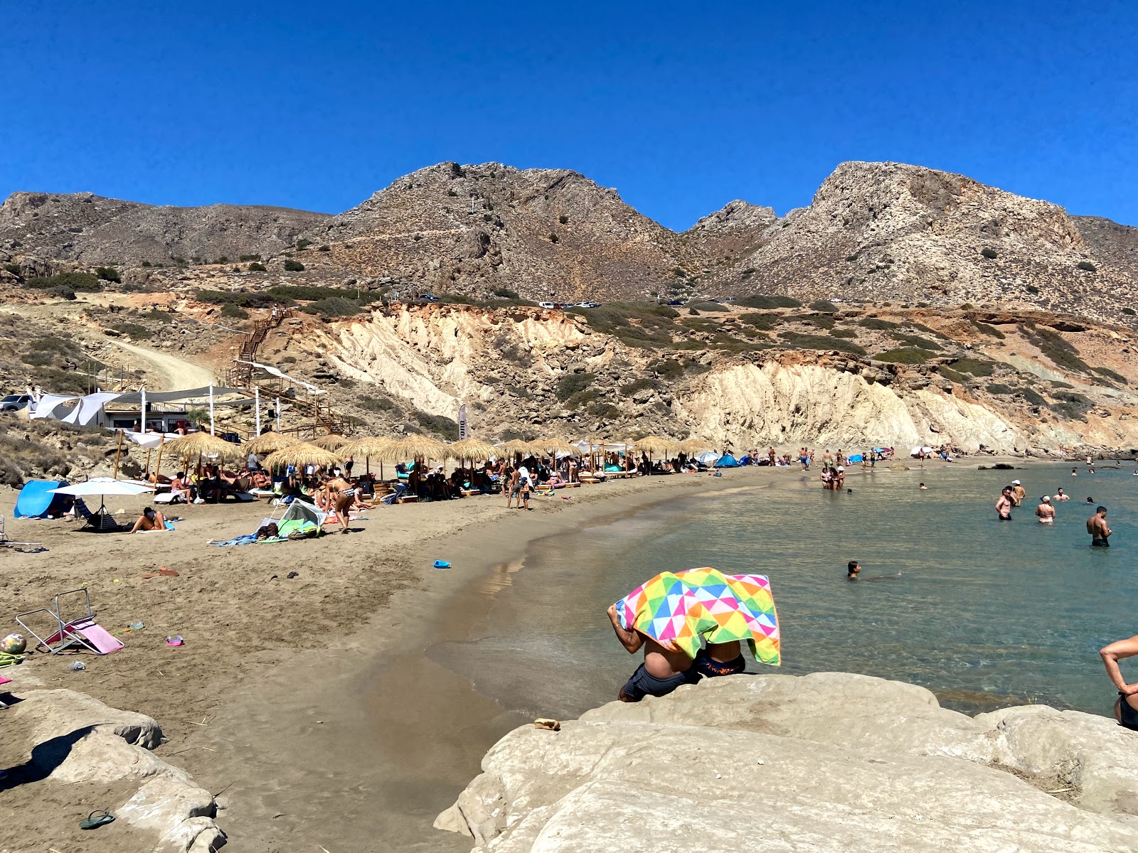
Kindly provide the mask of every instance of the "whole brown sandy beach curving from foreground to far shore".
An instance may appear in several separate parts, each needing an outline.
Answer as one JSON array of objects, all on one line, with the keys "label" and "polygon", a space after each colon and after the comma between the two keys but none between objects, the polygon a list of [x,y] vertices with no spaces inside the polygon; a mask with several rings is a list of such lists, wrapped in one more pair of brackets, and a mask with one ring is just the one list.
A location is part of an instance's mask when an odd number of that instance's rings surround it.
[{"label": "whole brown sandy beach curving from foreground to far shore", "polygon": [[[6,489],[9,537],[48,550],[3,554],[5,610],[44,606],[85,585],[100,623],[126,644],[84,655],[84,671],[71,671],[67,655],[31,655],[7,674],[16,693],[67,687],[158,720],[170,738],[159,754],[223,792],[220,822],[234,851],[464,850],[465,839],[430,822],[477,772],[487,732],[521,720],[423,657],[426,643],[461,632],[469,596],[509,582],[511,561],[535,539],[677,496],[799,477],[743,469],[640,478],[535,498],[529,513],[498,497],[377,507],[348,536],[237,548],[208,540],[250,532],[264,504],[174,507],[184,517],[175,532],[99,536],[68,522],[10,521],[16,492]],[[143,505],[108,500],[123,520]],[[432,569],[436,558],[453,568]],[[163,566],[179,575],[142,578]],[[138,621],[146,628],[124,630]],[[185,645],[167,647],[172,633]],[[0,763],[24,757],[0,752]],[[72,851],[81,838],[91,853],[123,850],[115,833],[74,828],[113,805],[113,792],[60,803],[44,785],[7,792],[19,818],[0,829],[0,845],[15,853],[38,838]]]}]

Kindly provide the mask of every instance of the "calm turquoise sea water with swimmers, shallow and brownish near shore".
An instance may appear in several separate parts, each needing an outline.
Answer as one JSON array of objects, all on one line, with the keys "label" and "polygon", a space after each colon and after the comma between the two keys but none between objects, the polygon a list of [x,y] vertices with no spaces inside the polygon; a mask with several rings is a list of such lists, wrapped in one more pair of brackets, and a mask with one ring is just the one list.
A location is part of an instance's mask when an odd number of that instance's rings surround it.
[{"label": "calm turquoise sea water with swimmers, shallow and brownish near shore", "polygon": [[[1097,651],[1138,633],[1138,477],[1130,463],[1070,471],[879,469],[851,474],[852,495],[777,472],[776,489],[669,502],[536,543],[485,581],[470,636],[427,654],[510,710],[574,717],[615,698],[638,661],[605,607],[657,572],[712,565],[770,577],[784,673],[902,679],[968,712],[1041,702],[1108,714]],[[999,523],[992,505],[1013,478],[1028,500]],[[1038,524],[1038,497],[1058,487],[1072,499]],[[1089,547],[1088,495],[1110,508],[1110,549]],[[863,577],[901,574],[851,583],[855,558]]]}]

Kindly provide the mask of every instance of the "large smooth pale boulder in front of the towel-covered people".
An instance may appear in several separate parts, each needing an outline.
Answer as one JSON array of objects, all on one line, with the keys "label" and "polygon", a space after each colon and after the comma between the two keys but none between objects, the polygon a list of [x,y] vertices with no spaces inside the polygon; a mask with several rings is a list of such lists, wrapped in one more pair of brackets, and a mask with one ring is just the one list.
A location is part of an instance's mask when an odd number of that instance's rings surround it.
[{"label": "large smooth pale boulder in front of the towel-covered people", "polygon": [[1138,735],[897,681],[736,676],[522,727],[438,817],[473,851],[1138,852]]}]

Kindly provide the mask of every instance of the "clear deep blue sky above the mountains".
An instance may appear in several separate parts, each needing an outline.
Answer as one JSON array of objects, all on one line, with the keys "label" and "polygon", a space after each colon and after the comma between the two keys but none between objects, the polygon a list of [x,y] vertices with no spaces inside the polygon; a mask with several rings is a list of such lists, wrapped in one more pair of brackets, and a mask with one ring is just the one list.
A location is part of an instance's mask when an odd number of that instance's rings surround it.
[{"label": "clear deep blue sky above the mountains", "polygon": [[[921,8],[917,8],[921,7]],[[0,197],[337,213],[443,160],[572,168],[674,229],[842,160],[1138,224],[1138,6],[6,3]]]}]

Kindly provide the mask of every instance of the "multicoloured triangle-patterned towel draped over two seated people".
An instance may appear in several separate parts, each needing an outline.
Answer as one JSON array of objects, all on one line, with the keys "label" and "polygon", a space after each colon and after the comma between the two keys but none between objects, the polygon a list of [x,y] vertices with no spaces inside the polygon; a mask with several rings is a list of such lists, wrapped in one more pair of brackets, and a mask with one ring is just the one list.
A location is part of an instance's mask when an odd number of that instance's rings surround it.
[{"label": "multicoloured triangle-patterned towel draped over two seated people", "polygon": [[704,643],[747,640],[759,663],[777,666],[778,614],[762,574],[704,568],[662,572],[617,602],[625,630],[670,641],[690,657]]}]

